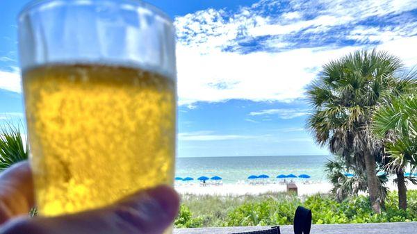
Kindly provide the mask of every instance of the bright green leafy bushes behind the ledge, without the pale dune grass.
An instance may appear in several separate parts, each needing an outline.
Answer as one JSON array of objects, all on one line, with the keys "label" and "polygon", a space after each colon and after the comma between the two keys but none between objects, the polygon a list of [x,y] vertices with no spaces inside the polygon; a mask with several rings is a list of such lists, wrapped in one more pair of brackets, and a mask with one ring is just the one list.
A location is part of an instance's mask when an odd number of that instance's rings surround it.
[{"label": "bright green leafy bushes behind the ledge, without the pale dune grass", "polygon": [[[231,209],[224,220],[203,222],[204,215],[193,216],[187,204],[181,206],[179,217],[175,221],[177,228],[202,226],[273,226],[293,224],[295,209],[304,206],[312,210],[313,224],[359,224],[378,222],[411,222],[417,221],[417,190],[407,192],[409,207],[407,210],[398,208],[397,192],[389,192],[385,201],[385,209],[375,214],[368,197],[356,196],[336,201],[327,194],[316,194],[305,197],[288,196],[265,197],[256,201],[245,201]],[[229,198],[230,199],[230,198]],[[204,202],[201,200],[200,202]],[[209,201],[208,201],[209,202]],[[221,212],[218,211],[218,212]],[[222,216],[219,216],[222,217]],[[213,217],[211,217],[213,219]]]}]

